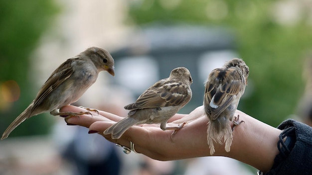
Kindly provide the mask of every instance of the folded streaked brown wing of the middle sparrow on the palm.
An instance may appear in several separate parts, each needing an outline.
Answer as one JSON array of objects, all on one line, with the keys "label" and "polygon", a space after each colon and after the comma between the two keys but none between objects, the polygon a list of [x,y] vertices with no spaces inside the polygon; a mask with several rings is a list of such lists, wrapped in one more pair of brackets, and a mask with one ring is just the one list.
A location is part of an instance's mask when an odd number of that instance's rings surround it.
[{"label": "folded streaked brown wing of the middle sparrow on the palm", "polygon": [[188,87],[176,80],[163,79],[144,91],[135,103],[125,106],[127,110],[181,105],[189,100]]}]

